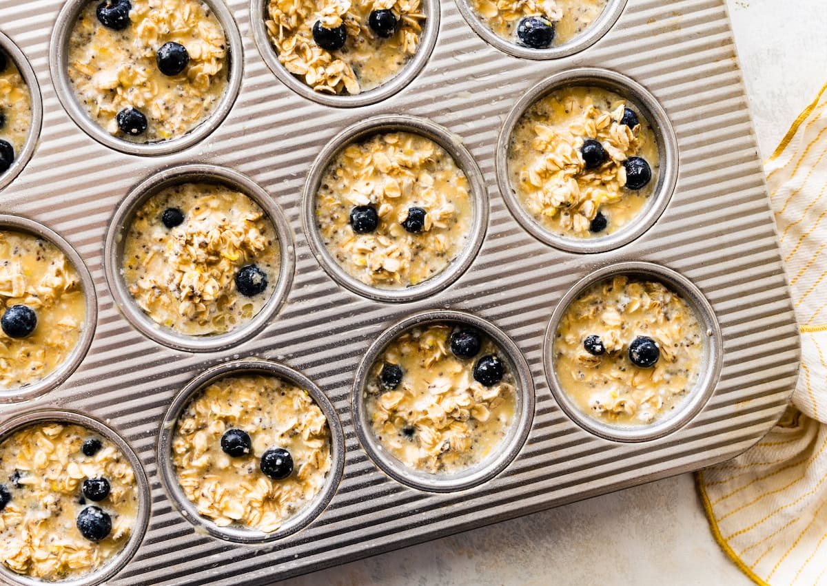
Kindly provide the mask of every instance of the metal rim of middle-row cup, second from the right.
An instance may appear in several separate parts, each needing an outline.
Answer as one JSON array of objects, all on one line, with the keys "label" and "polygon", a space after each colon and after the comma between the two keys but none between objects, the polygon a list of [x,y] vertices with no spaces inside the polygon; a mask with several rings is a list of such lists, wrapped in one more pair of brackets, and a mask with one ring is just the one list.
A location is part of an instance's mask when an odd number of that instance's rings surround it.
[{"label": "metal rim of middle-row cup, second from the right", "polygon": [[[328,165],[342,149],[354,142],[361,141],[369,136],[390,131],[405,131],[424,136],[447,150],[453,160],[468,179],[471,188],[472,223],[470,238],[465,248],[457,258],[452,260],[441,273],[417,285],[402,289],[383,289],[370,287],[359,279],[351,277],[345,269],[332,258],[324,245],[316,228],[315,198],[318,185]],[[308,172],[302,193],[302,226],[313,256],[316,257],[322,269],[342,287],[357,293],[362,297],[375,301],[390,303],[406,303],[426,298],[449,287],[471,267],[480,251],[485,232],[488,227],[488,193],[485,189],[485,180],[473,155],[462,144],[460,136],[452,133],[443,126],[439,126],[424,118],[412,116],[385,115],[371,117],[348,126],[344,131],[334,136],[319,153],[313,166]]]}]

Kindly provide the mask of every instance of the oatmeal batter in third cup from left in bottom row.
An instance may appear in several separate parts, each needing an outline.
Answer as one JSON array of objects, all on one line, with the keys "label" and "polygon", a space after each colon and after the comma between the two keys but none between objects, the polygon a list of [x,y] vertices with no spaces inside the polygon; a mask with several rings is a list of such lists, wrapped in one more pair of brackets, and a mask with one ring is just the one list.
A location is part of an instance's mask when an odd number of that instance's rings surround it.
[{"label": "oatmeal batter in third cup from left in bottom row", "polygon": [[[368,421],[380,444],[409,468],[453,474],[495,453],[514,422],[516,384],[510,366],[495,384],[476,380],[480,360],[502,350],[479,332],[479,350],[455,355],[458,324],[417,326],[394,340],[370,369]],[[399,367],[397,379],[387,375]],[[391,371],[392,372],[392,371]],[[394,382],[399,383],[394,387]]]}]

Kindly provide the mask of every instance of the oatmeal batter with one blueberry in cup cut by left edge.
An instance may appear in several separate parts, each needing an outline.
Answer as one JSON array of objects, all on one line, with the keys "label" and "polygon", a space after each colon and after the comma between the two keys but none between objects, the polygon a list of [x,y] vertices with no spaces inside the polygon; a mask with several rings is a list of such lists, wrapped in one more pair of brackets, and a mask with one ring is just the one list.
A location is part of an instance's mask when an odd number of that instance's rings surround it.
[{"label": "oatmeal batter with one blueberry in cup cut by left edge", "polygon": [[66,256],[50,242],[0,230],[0,316],[23,305],[36,327],[23,337],[0,329],[0,388],[36,383],[64,363],[86,321],[80,279]]}]

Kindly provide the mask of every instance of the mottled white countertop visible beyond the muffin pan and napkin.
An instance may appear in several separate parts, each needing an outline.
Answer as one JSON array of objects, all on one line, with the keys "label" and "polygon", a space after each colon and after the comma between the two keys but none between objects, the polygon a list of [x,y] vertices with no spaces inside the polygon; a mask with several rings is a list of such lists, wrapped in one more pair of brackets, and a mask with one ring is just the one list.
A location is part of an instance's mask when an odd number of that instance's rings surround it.
[{"label": "mottled white countertop visible beyond the muffin pan and napkin", "polygon": [[[668,2],[668,0],[663,0]],[[629,0],[635,2],[635,0]],[[727,0],[764,157],[827,83],[825,0]],[[783,4],[783,6],[782,6]],[[804,15],[793,18],[791,15]],[[752,584],[713,541],[691,474],[468,531],[284,586]]]}]

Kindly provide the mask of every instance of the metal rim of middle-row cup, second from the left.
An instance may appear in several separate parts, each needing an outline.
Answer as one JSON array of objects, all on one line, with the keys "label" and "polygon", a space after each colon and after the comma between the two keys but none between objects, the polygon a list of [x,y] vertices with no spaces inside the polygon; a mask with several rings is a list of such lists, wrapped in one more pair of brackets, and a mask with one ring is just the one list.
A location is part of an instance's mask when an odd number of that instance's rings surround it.
[{"label": "metal rim of middle-row cup, second from the left", "polygon": [[[279,282],[270,300],[250,322],[218,336],[185,336],[152,320],[135,303],[121,274],[121,259],[124,229],[138,207],[160,189],[189,182],[207,182],[227,185],[244,193],[256,202],[270,218],[279,237],[281,266]],[[144,179],[132,188],[127,197],[117,205],[115,215],[109,222],[103,250],[103,268],[109,291],[117,307],[136,330],[149,339],[174,350],[187,352],[212,352],[226,350],[239,345],[259,334],[268,322],[284,306],[293,283],[295,271],[295,250],[293,232],[284,217],[281,207],[258,183],[244,174],[227,167],[213,164],[187,164],[163,169]]]}]

